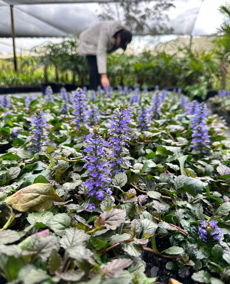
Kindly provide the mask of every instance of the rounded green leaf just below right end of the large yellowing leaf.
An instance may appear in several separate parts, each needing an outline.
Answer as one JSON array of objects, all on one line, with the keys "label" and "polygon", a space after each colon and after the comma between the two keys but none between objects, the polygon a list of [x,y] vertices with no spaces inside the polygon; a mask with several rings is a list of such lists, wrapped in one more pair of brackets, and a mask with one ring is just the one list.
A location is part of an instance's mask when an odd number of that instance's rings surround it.
[{"label": "rounded green leaf just below right end of the large yellowing leaf", "polygon": [[66,213],[58,213],[53,215],[47,221],[46,225],[52,229],[57,235],[62,236],[65,229],[70,227],[71,218]]}]

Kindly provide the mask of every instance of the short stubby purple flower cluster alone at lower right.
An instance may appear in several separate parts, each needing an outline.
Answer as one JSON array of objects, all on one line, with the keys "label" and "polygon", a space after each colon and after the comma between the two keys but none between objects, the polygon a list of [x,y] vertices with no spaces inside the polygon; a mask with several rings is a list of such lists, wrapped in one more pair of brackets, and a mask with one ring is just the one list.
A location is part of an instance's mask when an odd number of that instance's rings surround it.
[{"label": "short stubby purple flower cluster alone at lower right", "polygon": [[218,241],[221,237],[222,230],[217,227],[217,221],[212,220],[209,223],[205,221],[200,222],[198,227],[200,238],[203,242]]}]

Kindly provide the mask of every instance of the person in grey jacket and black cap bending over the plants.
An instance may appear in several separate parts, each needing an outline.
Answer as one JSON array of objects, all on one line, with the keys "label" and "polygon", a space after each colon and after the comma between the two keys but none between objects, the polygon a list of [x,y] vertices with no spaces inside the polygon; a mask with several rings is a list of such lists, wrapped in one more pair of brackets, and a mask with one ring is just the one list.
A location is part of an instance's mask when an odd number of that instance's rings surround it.
[{"label": "person in grey jacket and black cap bending over the plants", "polygon": [[86,56],[89,66],[89,89],[110,87],[107,77],[107,53],[119,47],[126,50],[132,34],[120,22],[99,22],[80,35],[78,54]]}]

